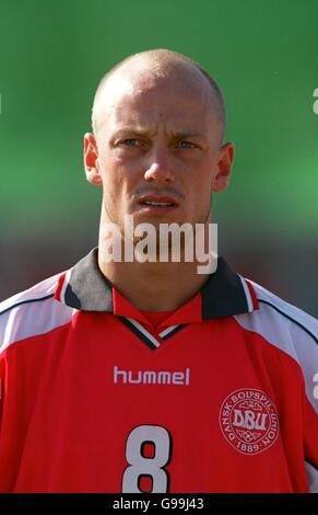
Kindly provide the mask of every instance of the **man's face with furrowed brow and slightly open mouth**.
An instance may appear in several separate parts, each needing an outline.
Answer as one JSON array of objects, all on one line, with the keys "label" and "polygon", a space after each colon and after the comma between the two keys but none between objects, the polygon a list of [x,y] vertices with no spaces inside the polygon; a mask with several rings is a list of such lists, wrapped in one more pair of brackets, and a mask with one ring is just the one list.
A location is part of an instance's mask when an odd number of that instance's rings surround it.
[{"label": "man's face with furrowed brow and slightly open mouth", "polygon": [[121,229],[125,215],[134,225],[209,221],[211,191],[226,186],[233,149],[231,158],[231,144],[220,147],[205,79],[131,75],[104,94],[97,141],[87,136],[86,153],[96,154],[107,219]]}]

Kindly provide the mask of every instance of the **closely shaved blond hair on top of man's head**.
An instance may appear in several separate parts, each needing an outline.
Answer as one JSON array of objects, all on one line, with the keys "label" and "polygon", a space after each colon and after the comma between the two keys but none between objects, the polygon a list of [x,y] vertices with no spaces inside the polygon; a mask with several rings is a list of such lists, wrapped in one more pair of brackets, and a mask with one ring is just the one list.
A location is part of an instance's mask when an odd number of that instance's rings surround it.
[{"label": "closely shaved blond hair on top of man's head", "polygon": [[105,73],[98,83],[92,108],[92,127],[95,136],[98,133],[99,104],[106,83],[117,71],[125,70],[126,67],[129,68],[128,65],[132,64],[133,61],[140,61],[143,65],[146,64],[148,71],[156,78],[168,78],[172,73],[175,73],[178,70],[185,71],[186,69],[190,70],[191,68],[197,70],[197,72],[199,71],[199,73],[210,84],[215,122],[220,125],[220,141],[223,140],[226,128],[226,108],[219,84],[210,75],[210,72],[201,65],[182,54],[167,50],[165,48],[133,54],[118,62],[114,68]]}]

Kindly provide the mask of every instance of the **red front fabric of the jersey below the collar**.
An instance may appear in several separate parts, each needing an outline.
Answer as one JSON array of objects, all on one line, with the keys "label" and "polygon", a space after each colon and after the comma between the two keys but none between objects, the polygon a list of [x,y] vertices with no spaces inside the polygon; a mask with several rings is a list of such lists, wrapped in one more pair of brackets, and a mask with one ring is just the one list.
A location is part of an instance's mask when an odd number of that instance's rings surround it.
[{"label": "red front fabric of the jersey below the collar", "polygon": [[[10,345],[1,362],[1,492],[119,493],[125,479],[136,491],[140,470],[170,492],[308,490],[302,443],[305,431],[318,462],[317,415],[301,368],[232,317],[189,324],[151,351],[117,317],[80,311]],[[175,382],[140,382],[144,371]],[[231,445],[221,410],[243,389],[264,392],[283,421],[278,439],[250,456]],[[150,469],[142,442],[154,442]]]}]

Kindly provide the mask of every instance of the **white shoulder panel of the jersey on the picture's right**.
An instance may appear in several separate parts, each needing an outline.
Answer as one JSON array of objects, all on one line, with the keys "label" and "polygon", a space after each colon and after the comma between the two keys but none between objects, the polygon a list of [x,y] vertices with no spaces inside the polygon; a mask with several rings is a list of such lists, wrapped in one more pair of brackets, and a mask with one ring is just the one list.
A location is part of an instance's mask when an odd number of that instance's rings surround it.
[{"label": "white shoulder panel of the jersey on the picture's right", "polygon": [[252,283],[252,286],[259,309],[235,319],[244,329],[260,334],[299,364],[308,400],[318,412],[318,399],[314,394],[318,373],[318,321],[259,285]]}]

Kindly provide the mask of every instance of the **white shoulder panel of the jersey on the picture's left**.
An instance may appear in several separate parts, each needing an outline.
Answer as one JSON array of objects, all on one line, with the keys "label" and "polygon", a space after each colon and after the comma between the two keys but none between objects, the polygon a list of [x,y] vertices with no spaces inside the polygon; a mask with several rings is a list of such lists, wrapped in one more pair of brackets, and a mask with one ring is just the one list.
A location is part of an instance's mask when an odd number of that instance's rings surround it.
[{"label": "white shoulder panel of the jersey on the picture's left", "polygon": [[55,298],[62,275],[48,277],[0,302],[0,353],[13,343],[44,334],[71,320],[72,308]]}]

